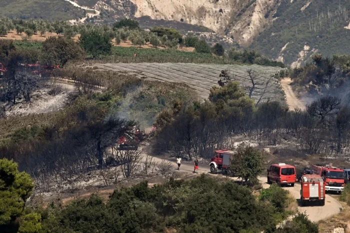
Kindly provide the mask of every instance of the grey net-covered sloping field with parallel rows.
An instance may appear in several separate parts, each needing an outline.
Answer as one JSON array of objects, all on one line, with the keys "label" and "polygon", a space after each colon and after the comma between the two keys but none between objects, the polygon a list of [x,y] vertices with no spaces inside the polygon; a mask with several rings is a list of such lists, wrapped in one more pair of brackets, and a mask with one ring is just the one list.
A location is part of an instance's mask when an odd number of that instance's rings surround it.
[{"label": "grey net-covered sloping field with parallel rows", "polygon": [[137,73],[139,78],[153,81],[167,81],[173,83],[186,83],[197,91],[199,96],[207,98],[210,88],[218,86],[221,70],[228,69],[233,80],[239,81],[247,93],[252,82],[247,69],[254,70],[258,75],[251,97],[260,102],[267,100],[282,100],[284,92],[280,82],[271,75],[281,68],[260,65],[236,65],[236,64],[196,64],[196,63],[98,63],[94,66],[103,70],[126,71]]}]

